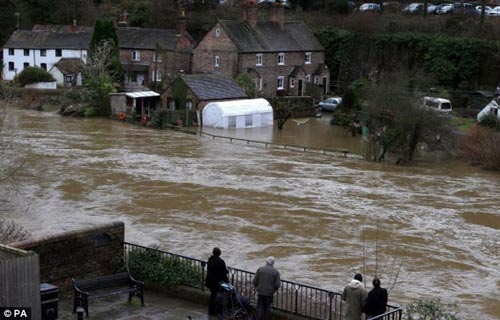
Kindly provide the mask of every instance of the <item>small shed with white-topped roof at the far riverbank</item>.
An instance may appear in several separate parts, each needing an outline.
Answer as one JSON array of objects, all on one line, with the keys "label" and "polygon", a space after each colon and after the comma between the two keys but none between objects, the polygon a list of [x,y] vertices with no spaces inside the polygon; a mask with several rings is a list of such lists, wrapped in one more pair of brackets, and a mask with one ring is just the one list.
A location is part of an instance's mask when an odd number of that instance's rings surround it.
[{"label": "small shed with white-topped roof at the far riverbank", "polygon": [[111,118],[147,124],[160,109],[160,94],[154,91],[111,93]]}]

